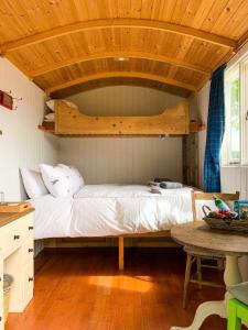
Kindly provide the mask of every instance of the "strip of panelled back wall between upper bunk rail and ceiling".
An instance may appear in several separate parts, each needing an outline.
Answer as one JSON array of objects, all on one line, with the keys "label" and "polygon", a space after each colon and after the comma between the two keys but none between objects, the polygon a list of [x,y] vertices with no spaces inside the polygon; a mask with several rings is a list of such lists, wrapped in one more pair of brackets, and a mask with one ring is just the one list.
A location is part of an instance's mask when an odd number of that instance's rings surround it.
[{"label": "strip of panelled back wall between upper bunk rail and ceiling", "polygon": [[181,97],[138,86],[112,86],[69,97],[91,116],[150,116],[177,105]]}]

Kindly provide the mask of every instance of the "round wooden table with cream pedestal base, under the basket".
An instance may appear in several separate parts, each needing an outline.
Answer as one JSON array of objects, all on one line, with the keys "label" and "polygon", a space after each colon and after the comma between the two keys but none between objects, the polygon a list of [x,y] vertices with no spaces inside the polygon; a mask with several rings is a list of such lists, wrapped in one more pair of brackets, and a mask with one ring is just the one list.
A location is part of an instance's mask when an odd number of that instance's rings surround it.
[{"label": "round wooden table with cream pedestal base, under the basket", "polygon": [[[204,221],[197,221],[175,226],[171,230],[171,237],[181,245],[211,252],[213,255],[215,253],[223,254],[226,256],[225,285],[229,286],[241,282],[238,257],[248,254],[247,234],[213,230]],[[227,302],[230,298],[231,295],[226,293],[224,300],[203,302],[197,308],[193,323],[190,327],[172,327],[171,330],[197,330],[211,315],[227,318]]]}]

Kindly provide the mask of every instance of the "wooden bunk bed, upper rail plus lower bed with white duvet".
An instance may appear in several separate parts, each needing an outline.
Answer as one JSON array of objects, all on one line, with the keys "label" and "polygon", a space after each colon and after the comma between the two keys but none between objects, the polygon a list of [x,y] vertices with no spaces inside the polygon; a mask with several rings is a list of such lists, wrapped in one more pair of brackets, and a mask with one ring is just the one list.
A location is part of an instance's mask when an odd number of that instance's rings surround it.
[{"label": "wooden bunk bed, upper rail plus lower bed with white duvet", "polygon": [[[91,117],[63,100],[55,101],[54,108],[55,122],[50,123],[48,130],[45,123],[39,129],[57,136],[159,135],[184,136],[187,142],[186,136],[204,129],[201,123],[190,121],[186,99],[162,113],[147,117]],[[87,245],[83,238],[118,238],[119,270],[123,270],[125,240],[161,238],[166,246],[175,246],[170,240],[171,227],[193,219],[191,190],[183,187],[154,195],[148,186],[86,185],[74,198],[60,200],[45,196],[33,201],[35,238],[46,239],[45,245],[50,248]]]}]

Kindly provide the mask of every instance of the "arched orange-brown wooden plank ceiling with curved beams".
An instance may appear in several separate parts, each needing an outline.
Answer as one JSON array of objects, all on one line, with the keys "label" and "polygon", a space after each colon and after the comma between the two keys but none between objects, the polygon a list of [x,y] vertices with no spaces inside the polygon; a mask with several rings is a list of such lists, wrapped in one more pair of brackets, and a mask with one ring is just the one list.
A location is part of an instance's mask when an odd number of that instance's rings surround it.
[{"label": "arched orange-brown wooden plank ceiling with curved beams", "polygon": [[60,97],[118,81],[186,95],[247,37],[247,0],[2,0],[0,8],[1,55]]}]

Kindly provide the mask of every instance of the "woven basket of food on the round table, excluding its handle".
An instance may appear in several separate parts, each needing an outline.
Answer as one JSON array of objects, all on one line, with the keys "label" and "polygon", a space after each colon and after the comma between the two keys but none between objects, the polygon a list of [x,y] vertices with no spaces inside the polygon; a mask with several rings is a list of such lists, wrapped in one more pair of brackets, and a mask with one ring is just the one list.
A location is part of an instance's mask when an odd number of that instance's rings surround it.
[{"label": "woven basket of food on the round table, excluding its handle", "polygon": [[204,217],[203,220],[213,229],[248,233],[248,219],[233,220],[233,219],[215,219],[215,218]]}]

